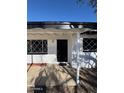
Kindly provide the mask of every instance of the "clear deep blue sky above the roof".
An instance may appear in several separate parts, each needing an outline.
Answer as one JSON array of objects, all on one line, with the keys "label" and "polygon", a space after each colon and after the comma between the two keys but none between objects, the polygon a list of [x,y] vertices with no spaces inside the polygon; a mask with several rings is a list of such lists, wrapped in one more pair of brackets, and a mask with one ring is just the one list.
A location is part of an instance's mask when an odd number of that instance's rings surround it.
[{"label": "clear deep blue sky above the roof", "polygon": [[88,4],[76,0],[27,0],[28,21],[96,22],[96,14]]}]

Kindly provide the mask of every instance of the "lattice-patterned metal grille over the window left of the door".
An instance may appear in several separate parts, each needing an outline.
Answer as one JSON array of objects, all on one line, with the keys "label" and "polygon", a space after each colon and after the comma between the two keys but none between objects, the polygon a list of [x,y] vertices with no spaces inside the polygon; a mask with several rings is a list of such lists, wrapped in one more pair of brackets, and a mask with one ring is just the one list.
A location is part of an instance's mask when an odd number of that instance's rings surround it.
[{"label": "lattice-patterned metal grille over the window left of the door", "polygon": [[47,54],[47,40],[27,40],[28,54]]}]

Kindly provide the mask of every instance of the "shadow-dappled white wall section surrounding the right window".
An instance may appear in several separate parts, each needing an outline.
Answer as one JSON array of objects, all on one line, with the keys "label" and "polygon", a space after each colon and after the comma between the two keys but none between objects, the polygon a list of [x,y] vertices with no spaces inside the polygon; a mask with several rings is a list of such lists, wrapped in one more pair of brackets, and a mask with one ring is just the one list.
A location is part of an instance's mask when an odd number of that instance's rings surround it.
[{"label": "shadow-dappled white wall section surrounding the right window", "polygon": [[[73,36],[72,44],[72,58],[71,65],[74,68],[77,66],[83,68],[94,68],[97,65],[97,53],[96,52],[83,52],[83,38],[97,38],[96,35],[82,35],[77,43],[76,34]],[[79,59],[77,60],[77,44],[79,46]],[[78,61],[78,62],[77,62]]]}]

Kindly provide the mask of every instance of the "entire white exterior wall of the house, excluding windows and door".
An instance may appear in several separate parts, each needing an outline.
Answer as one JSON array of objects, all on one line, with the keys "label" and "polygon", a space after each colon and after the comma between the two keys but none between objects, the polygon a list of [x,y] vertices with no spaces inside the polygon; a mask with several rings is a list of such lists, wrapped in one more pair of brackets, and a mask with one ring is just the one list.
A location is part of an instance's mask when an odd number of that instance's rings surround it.
[{"label": "entire white exterior wall of the house, excluding windows and door", "polygon": [[[62,33],[62,34],[28,34],[28,40],[47,40],[48,54],[45,55],[27,55],[28,63],[57,63],[57,40],[68,40],[68,62],[76,68],[77,67],[77,34],[76,33]],[[97,63],[96,52],[83,52],[83,38],[97,38],[96,35],[82,35],[80,38],[80,52],[79,62],[81,67],[91,68],[95,67]]]}]

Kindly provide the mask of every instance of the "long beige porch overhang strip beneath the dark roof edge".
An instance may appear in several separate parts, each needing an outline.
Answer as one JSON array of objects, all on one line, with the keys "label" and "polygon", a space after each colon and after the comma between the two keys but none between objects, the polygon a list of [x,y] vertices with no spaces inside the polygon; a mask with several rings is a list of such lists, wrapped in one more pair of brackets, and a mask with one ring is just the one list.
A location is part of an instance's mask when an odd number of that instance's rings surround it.
[{"label": "long beige porch overhang strip beneath the dark roof edge", "polygon": [[68,34],[68,33],[84,33],[87,31],[95,31],[94,29],[90,29],[90,28],[73,28],[73,29],[54,29],[54,28],[47,28],[47,29],[43,29],[43,28],[32,28],[32,29],[28,29],[27,33],[28,34]]}]

